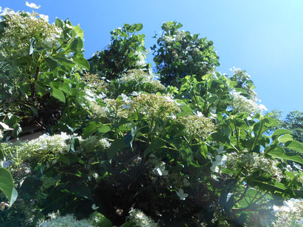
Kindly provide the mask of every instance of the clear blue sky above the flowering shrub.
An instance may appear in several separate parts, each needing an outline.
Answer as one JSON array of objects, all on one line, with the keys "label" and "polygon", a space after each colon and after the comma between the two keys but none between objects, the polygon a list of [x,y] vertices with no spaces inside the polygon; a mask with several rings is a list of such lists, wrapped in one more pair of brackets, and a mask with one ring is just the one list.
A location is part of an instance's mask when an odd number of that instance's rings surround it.
[{"label": "clear blue sky above the flowering shrub", "polygon": [[[214,41],[220,56],[218,71],[244,69],[256,84],[262,104],[286,115],[303,111],[302,0],[35,0],[36,12],[80,24],[85,32],[85,56],[110,43],[109,32],[124,23],[142,23],[146,47],[155,43],[164,21]],[[31,11],[21,0],[1,0],[2,8]],[[152,61],[152,56],[148,57]]]}]

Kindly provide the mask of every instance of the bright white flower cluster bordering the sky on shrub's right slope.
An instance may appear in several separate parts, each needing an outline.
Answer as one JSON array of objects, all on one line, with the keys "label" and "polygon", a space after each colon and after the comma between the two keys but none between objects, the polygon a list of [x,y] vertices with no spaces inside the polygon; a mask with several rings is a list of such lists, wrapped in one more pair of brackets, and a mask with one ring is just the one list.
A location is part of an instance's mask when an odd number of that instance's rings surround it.
[{"label": "bright white flower cluster bordering the sky on shrub's right slope", "polygon": [[232,98],[232,108],[236,112],[247,112],[249,114],[256,114],[258,112],[262,112],[263,110],[267,110],[264,105],[261,104],[259,106],[256,101],[247,99],[247,97],[240,95],[240,93],[236,91],[232,91],[230,93],[230,96]]}]

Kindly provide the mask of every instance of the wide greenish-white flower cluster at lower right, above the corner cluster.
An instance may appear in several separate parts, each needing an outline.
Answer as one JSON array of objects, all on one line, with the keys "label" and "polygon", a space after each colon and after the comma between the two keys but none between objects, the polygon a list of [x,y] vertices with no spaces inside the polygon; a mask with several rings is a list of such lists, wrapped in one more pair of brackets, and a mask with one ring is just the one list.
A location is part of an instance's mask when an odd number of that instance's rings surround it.
[{"label": "wide greenish-white flower cluster at lower right, above the corner cluster", "polygon": [[238,152],[232,152],[226,154],[227,160],[225,167],[227,169],[236,170],[245,168],[248,171],[248,176],[254,173],[254,171],[260,170],[269,174],[272,178],[281,180],[283,177],[282,171],[277,167],[278,160],[271,158],[265,158],[264,156],[256,153],[249,153],[244,151],[239,154]]}]

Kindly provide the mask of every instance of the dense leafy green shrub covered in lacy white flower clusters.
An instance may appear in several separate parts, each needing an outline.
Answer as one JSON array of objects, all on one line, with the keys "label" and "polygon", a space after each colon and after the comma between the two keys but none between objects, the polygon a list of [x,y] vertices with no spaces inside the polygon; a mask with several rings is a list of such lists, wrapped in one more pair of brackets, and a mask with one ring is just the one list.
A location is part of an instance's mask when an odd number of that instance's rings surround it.
[{"label": "dense leafy green shrub covered in lacy white flower clusters", "polygon": [[142,24],[88,62],[79,25],[1,17],[2,226],[300,226],[303,145],[212,41],[164,23],[153,72]]}]

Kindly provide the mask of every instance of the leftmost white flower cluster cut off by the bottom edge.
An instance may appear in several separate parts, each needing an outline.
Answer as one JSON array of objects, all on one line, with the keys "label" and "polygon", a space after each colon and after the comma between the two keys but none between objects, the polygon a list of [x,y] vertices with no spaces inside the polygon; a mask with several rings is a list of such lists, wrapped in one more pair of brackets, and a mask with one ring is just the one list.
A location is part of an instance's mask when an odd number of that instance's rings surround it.
[{"label": "leftmost white flower cluster cut off by the bottom edge", "polygon": [[66,226],[77,226],[77,227],[87,227],[94,226],[93,220],[91,219],[81,219],[77,220],[74,215],[60,216],[59,213],[49,214],[50,219],[47,221],[40,220],[37,224],[38,227],[66,227]]}]

